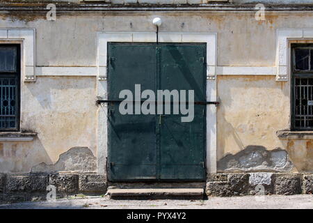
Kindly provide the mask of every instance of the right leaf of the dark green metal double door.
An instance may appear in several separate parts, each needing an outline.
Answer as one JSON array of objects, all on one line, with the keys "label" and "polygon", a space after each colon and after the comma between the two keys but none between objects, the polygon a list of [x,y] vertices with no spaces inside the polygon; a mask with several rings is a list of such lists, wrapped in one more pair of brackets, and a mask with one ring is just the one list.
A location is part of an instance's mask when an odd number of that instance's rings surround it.
[{"label": "right leaf of the dark green metal double door", "polygon": [[[204,45],[161,47],[160,89],[193,90],[195,101],[203,101],[204,53]],[[204,109],[195,105],[191,122],[182,122],[180,113],[161,117],[161,178],[204,178]]]}]

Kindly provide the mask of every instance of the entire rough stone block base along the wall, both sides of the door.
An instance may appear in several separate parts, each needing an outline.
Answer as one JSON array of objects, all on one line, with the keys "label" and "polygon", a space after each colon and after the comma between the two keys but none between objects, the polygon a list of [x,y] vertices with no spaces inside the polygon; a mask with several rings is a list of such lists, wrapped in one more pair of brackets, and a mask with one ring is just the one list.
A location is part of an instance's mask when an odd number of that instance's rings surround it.
[{"label": "entire rough stone block base along the wall, both sides of the door", "polygon": [[[103,174],[0,174],[0,203],[41,201],[53,194],[56,198],[99,195],[106,190],[107,180]],[[205,192],[208,197],[312,194],[313,174],[213,174],[207,179]]]}]

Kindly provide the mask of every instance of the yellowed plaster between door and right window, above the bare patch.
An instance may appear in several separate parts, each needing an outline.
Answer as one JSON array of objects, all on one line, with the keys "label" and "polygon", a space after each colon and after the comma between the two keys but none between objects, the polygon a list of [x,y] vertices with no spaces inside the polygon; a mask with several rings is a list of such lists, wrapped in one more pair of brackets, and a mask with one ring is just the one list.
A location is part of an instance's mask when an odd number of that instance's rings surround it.
[{"label": "yellowed plaster between door and right window, above the bare patch", "polygon": [[272,76],[218,76],[218,159],[246,146],[282,147],[289,127],[289,84]]}]

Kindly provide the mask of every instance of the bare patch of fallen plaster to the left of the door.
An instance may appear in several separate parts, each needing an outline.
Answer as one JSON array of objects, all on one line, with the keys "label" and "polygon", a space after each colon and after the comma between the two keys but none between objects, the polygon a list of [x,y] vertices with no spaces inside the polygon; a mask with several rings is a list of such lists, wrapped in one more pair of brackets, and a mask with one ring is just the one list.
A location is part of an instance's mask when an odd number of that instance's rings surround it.
[{"label": "bare patch of fallen plaster to the left of the door", "polygon": [[55,164],[42,162],[33,168],[31,173],[56,173],[58,171],[95,172],[97,158],[88,147],[73,147],[62,153]]}]

